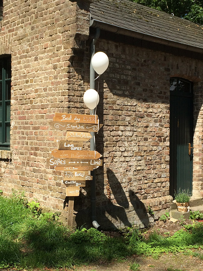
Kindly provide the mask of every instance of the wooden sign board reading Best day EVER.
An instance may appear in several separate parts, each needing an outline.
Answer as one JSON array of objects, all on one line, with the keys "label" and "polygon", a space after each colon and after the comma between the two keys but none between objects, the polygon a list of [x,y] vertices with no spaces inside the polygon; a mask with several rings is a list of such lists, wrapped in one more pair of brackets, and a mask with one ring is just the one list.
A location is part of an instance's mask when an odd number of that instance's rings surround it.
[{"label": "wooden sign board reading Best day EVER", "polygon": [[54,121],[69,123],[98,123],[97,115],[55,113]]}]

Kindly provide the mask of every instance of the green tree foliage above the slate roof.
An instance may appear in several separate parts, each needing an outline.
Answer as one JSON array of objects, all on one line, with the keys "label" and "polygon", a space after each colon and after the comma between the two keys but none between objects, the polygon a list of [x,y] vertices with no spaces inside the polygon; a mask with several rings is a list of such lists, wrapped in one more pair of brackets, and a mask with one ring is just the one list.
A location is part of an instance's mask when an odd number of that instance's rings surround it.
[{"label": "green tree foliage above the slate roof", "polygon": [[131,0],[174,16],[203,25],[203,2],[201,0]]}]

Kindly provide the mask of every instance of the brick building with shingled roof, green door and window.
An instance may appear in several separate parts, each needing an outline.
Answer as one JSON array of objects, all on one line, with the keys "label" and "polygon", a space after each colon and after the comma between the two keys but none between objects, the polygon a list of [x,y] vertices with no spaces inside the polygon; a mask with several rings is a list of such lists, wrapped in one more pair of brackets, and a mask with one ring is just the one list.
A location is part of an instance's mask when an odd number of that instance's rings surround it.
[{"label": "brick building with shingled roof, green door and window", "polygon": [[[49,121],[57,112],[89,114],[83,94],[95,48],[109,57],[97,107],[96,149],[104,159],[96,171],[98,223],[153,223],[147,206],[157,217],[178,188],[202,197],[203,26],[128,0],[10,0],[2,17],[4,195],[24,190],[67,217],[62,173],[46,166],[54,140],[66,133]],[[75,198],[78,226],[91,225],[94,201],[89,182]]]}]

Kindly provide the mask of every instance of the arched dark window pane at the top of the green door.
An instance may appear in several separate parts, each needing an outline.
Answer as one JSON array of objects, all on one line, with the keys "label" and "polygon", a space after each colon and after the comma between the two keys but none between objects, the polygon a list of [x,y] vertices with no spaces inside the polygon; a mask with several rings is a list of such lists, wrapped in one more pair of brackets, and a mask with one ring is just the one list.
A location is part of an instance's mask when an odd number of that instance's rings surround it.
[{"label": "arched dark window pane at the top of the green door", "polygon": [[192,92],[192,84],[190,81],[182,78],[171,78],[170,79],[170,90],[180,92]]}]

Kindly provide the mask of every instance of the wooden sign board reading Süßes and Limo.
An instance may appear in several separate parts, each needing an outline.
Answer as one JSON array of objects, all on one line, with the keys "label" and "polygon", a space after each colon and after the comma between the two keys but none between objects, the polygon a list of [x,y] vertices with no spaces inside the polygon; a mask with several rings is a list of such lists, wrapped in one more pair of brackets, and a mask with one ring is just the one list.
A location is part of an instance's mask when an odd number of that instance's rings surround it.
[{"label": "wooden sign board reading S\u00fc\u00dfes and Limo", "polygon": [[101,159],[65,159],[65,158],[47,158],[47,166],[94,166],[94,167],[100,167],[103,165],[103,160]]}]

